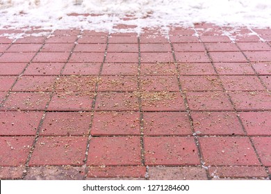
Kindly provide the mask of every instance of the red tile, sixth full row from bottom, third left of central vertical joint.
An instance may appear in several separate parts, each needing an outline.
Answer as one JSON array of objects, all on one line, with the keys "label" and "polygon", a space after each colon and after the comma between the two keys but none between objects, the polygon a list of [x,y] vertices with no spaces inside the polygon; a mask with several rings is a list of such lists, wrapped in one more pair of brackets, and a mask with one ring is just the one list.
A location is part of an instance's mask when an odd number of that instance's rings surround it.
[{"label": "red tile, sixth full row from bottom, third left of central vertical joint", "polygon": [[33,62],[67,62],[70,53],[38,53]]}]

